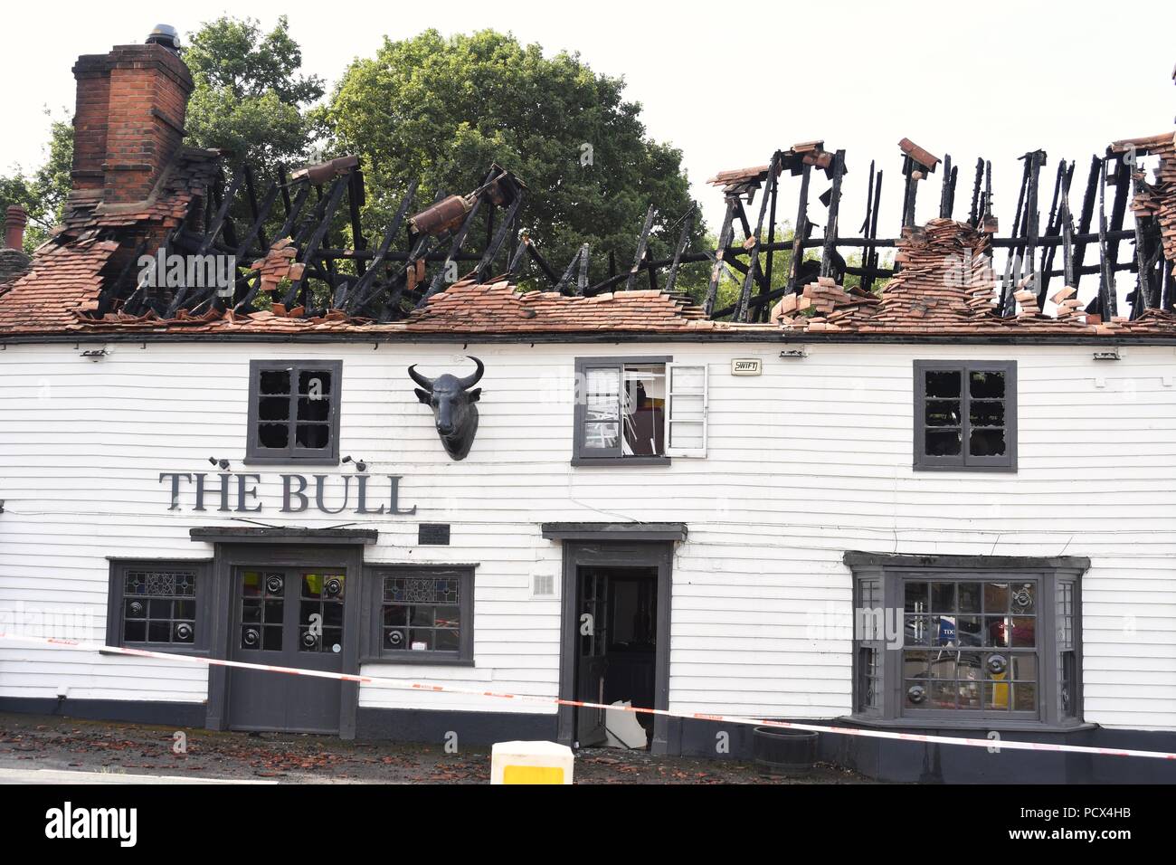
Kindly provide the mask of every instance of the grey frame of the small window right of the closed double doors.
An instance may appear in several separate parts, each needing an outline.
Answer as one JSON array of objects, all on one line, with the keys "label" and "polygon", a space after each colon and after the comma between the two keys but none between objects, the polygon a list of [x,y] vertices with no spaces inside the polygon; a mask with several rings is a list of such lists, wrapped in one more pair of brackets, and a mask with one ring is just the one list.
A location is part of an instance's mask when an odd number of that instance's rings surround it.
[{"label": "grey frame of the small window right of the closed double doors", "polygon": [[[449,666],[474,666],[474,572],[476,565],[426,565],[426,564],[365,564],[363,566],[363,616],[366,626],[360,633],[361,664],[433,664]],[[461,617],[457,651],[392,650],[383,645],[383,580],[385,577],[423,577],[437,579],[456,577],[461,580],[461,594],[456,606]]]}]

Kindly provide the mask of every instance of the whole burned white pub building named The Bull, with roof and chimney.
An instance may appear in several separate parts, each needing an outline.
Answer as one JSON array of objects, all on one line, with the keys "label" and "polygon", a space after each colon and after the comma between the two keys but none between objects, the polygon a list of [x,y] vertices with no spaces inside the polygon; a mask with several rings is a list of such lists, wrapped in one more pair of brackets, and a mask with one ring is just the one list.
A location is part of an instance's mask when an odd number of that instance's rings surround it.
[{"label": "whole burned white pub building named The Bull, with roof and chimney", "polygon": [[[1176,750],[1171,129],[1011,167],[799,142],[714,177],[715,248],[650,208],[627,257],[559,261],[509,165],[436,200],[405,178],[373,232],[354,155],[185,146],[166,38],[74,75],[62,224],[29,258],[9,208],[0,253],[4,711],[715,759],[751,727],[703,716]],[[667,713],[617,736],[486,692]],[[1174,778],[830,733],[821,756]]]}]

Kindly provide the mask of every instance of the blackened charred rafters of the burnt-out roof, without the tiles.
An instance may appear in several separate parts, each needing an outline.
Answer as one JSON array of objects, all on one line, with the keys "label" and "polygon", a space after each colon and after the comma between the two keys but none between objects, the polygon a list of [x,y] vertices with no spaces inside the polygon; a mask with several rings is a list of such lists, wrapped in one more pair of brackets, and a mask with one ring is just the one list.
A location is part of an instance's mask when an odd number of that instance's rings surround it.
[{"label": "blackened charred rafters of the burnt-out roof, without the tiles", "polygon": [[[1123,228],[1123,217],[1131,182],[1128,159],[1134,153],[1158,153],[1163,158],[1160,185],[1137,179],[1135,211],[1137,225]],[[843,285],[846,275],[860,277],[861,287],[855,292],[871,295],[877,280],[891,279],[903,268],[903,257],[894,267],[883,266],[880,251],[900,248],[911,242],[914,207],[917,185],[943,164],[943,184],[940,189],[938,217],[951,220],[957,168],[951,158],[940,159],[909,139],[900,142],[906,188],[902,202],[903,237],[877,237],[878,214],[882,209],[883,171],[870,164],[866,174],[867,208],[860,237],[840,231],[841,187],[848,169],[844,151],[829,151],[823,141],[807,141],[775,152],[766,165],[724,171],[709,181],[721,189],[727,201],[727,213],[720,229],[720,242],[713,252],[691,252],[689,229],[694,213],[677,215],[674,225],[681,226],[679,242],[669,259],[648,254],[650,227],[656,214],[650,208],[636,234],[636,258],[632,267],[597,285],[588,285],[588,260],[594,251],[582,245],[567,265],[556,266],[540,253],[536,244],[517,224],[519,205],[526,194],[524,184],[509,171],[493,165],[483,182],[467,193],[440,195],[433,204],[416,208],[415,184],[410,184],[400,206],[374,247],[367,244],[359,220],[365,201],[363,177],[360,160],[345,155],[329,161],[282,173],[261,192],[256,177],[248,166],[232,175],[221,174],[221,157],[215,153],[185,152],[179,160],[180,173],[209,175],[207,194],[191,199],[187,218],[173,227],[160,247],[167,252],[198,254],[234,254],[239,265],[230,293],[212,288],[181,286],[178,291],[151,292],[134,278],[128,268],[115,279],[103,282],[99,312],[122,318],[220,317],[249,314],[259,307],[259,297],[269,299],[275,314],[314,319],[355,319],[362,321],[397,321],[407,319],[414,310],[439,293],[445,292],[455,277],[468,282],[481,282],[499,274],[499,279],[515,280],[526,260],[536,264],[535,277],[546,279],[550,290],[567,295],[595,295],[610,291],[632,291],[657,286],[659,274],[664,273],[662,291],[673,292],[679,268],[683,264],[709,261],[711,279],[704,300],[707,314],[714,319],[736,322],[779,322],[789,311],[797,315],[807,312],[813,300],[806,298],[807,286],[822,290]],[[984,238],[976,247],[977,254],[1007,249],[1008,262],[1003,274],[994,277],[997,286],[991,304],[971,304],[973,313],[990,313],[998,318],[1017,319],[1029,312],[1042,314],[1049,282],[1061,278],[1063,288],[1074,290],[1060,298],[1058,318],[1069,319],[1078,305],[1074,299],[1083,275],[1098,274],[1100,292],[1085,310],[1088,322],[1101,324],[1116,315],[1112,292],[1114,274],[1138,274],[1143,265],[1143,291],[1131,295],[1131,318],[1144,311],[1171,310],[1171,260],[1176,259],[1176,213],[1170,204],[1176,188],[1176,152],[1171,135],[1130,139],[1116,142],[1108,155],[1095,158],[1087,195],[1078,214],[1078,224],[1068,201],[1073,162],[1062,162],[1051,184],[1053,197],[1042,219],[1040,193],[1041,169],[1047,165],[1043,151],[1030,151],[1024,157],[1021,192],[1008,237],[995,237],[996,218],[993,214],[991,164],[978,159],[971,189],[971,208],[967,222],[955,222],[958,229],[975,229]],[[816,200],[809,200],[811,171],[822,172],[830,186]],[[800,177],[796,201],[797,231],[790,239],[780,237],[779,207],[780,178],[784,172]],[[211,173],[211,174],[209,174]],[[173,178],[176,172],[173,171]],[[1165,185],[1167,184],[1167,185]],[[1103,225],[1094,225],[1094,207],[1105,197],[1104,187],[1115,188],[1115,204],[1102,217]],[[198,189],[198,193],[200,189]],[[259,194],[261,192],[261,194]],[[749,212],[754,206],[755,211]],[[814,220],[814,206],[824,208],[824,217]],[[1168,209],[1164,209],[1164,208]],[[1104,208],[1105,209],[1105,208]],[[495,224],[494,213],[501,213]],[[242,221],[241,214],[245,214]],[[409,215],[410,214],[410,215]],[[472,232],[475,219],[482,215],[487,225],[485,239]],[[280,228],[267,241],[267,224],[280,221]],[[1161,224],[1168,228],[1161,232]],[[340,246],[333,227],[350,227],[353,244]],[[823,229],[822,229],[823,226]],[[814,229],[821,229],[815,233]],[[1044,231],[1042,231],[1044,228]],[[942,229],[938,229],[942,232]],[[739,239],[737,233],[743,238]],[[340,239],[342,233],[340,234]],[[1117,254],[1122,241],[1142,248],[1142,255],[1123,258]],[[149,244],[148,244],[149,246]],[[1088,247],[1098,254],[1097,264],[1085,264]],[[1165,259],[1165,246],[1171,248]],[[149,249],[146,249],[149,252]],[[773,252],[790,251],[791,266],[787,273],[773,272]],[[857,251],[861,261],[847,264],[844,252]],[[1061,252],[1060,252],[1061,251]],[[808,258],[817,252],[818,258]],[[601,254],[601,253],[596,253]],[[607,253],[604,253],[607,254]],[[349,267],[343,267],[349,262]],[[499,265],[499,267],[495,267]],[[141,275],[141,274],[140,274]],[[642,277],[642,284],[636,278]],[[820,277],[820,280],[817,278]],[[740,286],[733,306],[716,308],[717,286],[722,279]],[[1034,284],[1025,280],[1031,278]],[[141,280],[140,280],[141,281]],[[1025,291],[1030,291],[1030,295]],[[813,291],[816,291],[814,287]],[[844,292],[843,292],[844,293]],[[1063,292],[1064,293],[1064,292]],[[824,292],[826,300],[829,293]],[[849,293],[844,293],[850,297]],[[983,291],[981,297],[987,297]],[[791,297],[781,310],[780,301]],[[1064,304],[1064,306],[1062,306]],[[775,314],[771,314],[775,305]],[[989,310],[989,307],[991,307]],[[1018,313],[1020,307],[1020,313]],[[1103,312],[1107,307],[1109,312]],[[821,317],[817,315],[817,319]],[[1081,319],[1074,319],[1075,322]],[[794,324],[806,325],[796,319]],[[821,325],[822,321],[813,322]],[[820,330],[820,328],[817,328]]]}]

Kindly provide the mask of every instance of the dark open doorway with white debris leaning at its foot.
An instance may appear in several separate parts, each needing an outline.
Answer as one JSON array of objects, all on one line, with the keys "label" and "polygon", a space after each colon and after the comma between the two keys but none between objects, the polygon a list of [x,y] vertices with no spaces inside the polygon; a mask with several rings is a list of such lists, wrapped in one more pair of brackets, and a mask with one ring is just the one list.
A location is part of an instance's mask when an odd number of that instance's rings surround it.
[{"label": "dark open doorway with white debris leaning at its foot", "polygon": [[[653,707],[656,697],[657,567],[580,565],[576,568],[576,699]],[[644,736],[639,736],[630,719]],[[612,744],[648,748],[650,714],[581,707],[577,747]]]}]

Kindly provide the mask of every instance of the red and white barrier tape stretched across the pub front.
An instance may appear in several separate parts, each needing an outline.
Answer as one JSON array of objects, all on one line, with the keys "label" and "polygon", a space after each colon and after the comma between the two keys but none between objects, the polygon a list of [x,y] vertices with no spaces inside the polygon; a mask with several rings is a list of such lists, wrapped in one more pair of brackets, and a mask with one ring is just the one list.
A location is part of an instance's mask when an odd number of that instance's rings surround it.
[{"label": "red and white barrier tape stretched across the pub front", "polygon": [[1176,753],[1168,751],[1138,751],[1136,748],[1112,748],[1091,747],[1088,745],[1049,745],[1038,741],[1013,741],[1009,739],[969,739],[958,736],[927,736],[924,733],[900,733],[889,730],[870,730],[857,727],[831,727],[822,724],[803,724],[796,721],[769,720],[767,718],[744,718],[731,714],[708,714],[704,712],[671,712],[667,708],[643,708],[640,706],[610,706],[604,703],[588,703],[587,700],[564,700],[559,697],[541,697],[539,694],[510,694],[496,691],[479,691],[472,687],[455,687],[453,685],[430,685],[422,681],[406,681],[402,679],[388,679],[379,676],[359,676],[355,673],[332,673],[323,670],[301,670],[299,667],[279,667],[270,664],[248,664],[240,660],[225,660],[221,658],[203,658],[191,654],[171,654],[168,652],[153,652],[146,648],[123,648],[120,646],[102,646],[96,643],[82,643],[80,640],[64,640],[52,637],[25,637],[21,634],[0,633],[0,641],[33,643],[41,645],[64,646],[67,648],[80,648],[87,652],[102,652],[105,654],[127,654],[136,658],[159,658],[160,660],[172,660],[182,664],[199,664],[207,666],[236,667],[239,670],[260,670],[270,673],[287,673],[289,676],[309,676],[319,679],[336,679],[339,681],[355,681],[362,685],[374,685],[376,687],[392,687],[405,691],[432,691],[434,693],[466,694],[472,697],[493,697],[502,700],[519,700],[523,703],[542,703],[555,706],[577,706],[580,708],[603,708],[614,712],[640,712],[643,714],[661,714],[667,718],[689,718],[693,720],[710,720],[726,724],[750,724],[757,727],[783,727],[787,730],[806,730],[814,733],[834,733],[836,736],[861,736],[869,739],[897,739],[900,741],[927,741],[938,745],[964,745],[967,747],[1008,748],[1010,751],[1054,751],[1062,753],[1078,754],[1102,754],[1105,757],[1150,757],[1158,760],[1176,760]]}]

